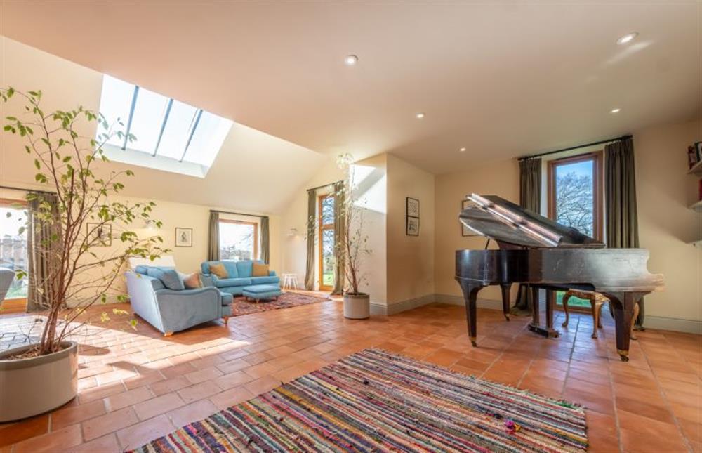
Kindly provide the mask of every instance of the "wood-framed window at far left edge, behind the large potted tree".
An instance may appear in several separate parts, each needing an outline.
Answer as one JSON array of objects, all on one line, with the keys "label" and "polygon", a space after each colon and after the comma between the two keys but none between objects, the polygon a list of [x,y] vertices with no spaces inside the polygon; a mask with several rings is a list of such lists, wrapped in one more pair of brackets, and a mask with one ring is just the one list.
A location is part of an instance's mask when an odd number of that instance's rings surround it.
[{"label": "wood-framed window at far left edge, behind the large potted tree", "polygon": [[[20,233],[27,223],[27,211],[22,206],[26,206],[23,201],[0,199],[0,267],[27,270],[27,231]],[[23,307],[27,301],[27,278],[15,279],[5,298],[4,310]]]}]

